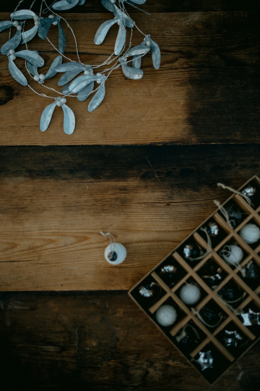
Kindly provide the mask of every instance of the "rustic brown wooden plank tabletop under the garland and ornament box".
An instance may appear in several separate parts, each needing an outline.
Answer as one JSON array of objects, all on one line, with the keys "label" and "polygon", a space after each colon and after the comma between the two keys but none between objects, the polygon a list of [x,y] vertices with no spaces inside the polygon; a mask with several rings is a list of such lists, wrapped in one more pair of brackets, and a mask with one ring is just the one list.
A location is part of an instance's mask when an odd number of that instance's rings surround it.
[{"label": "rustic brown wooden plank tabletop under the garland and ornament box", "polygon": [[[115,32],[91,43],[110,18],[99,3],[65,14],[83,62],[113,51]],[[1,5],[0,20],[15,5]],[[69,101],[73,135],[58,109],[40,131],[50,101],[16,83],[0,58],[3,391],[209,389],[127,290],[214,211],[213,199],[228,197],[218,182],[239,188],[260,174],[259,5],[147,0],[143,9],[152,16],[131,14],[160,46],[160,69],[148,54],[140,81],[116,70],[93,113]],[[39,47],[46,70],[54,50],[28,43]],[[76,59],[70,38],[66,50]],[[126,246],[123,264],[104,260],[101,230]],[[210,389],[258,389],[259,348]]]}]

